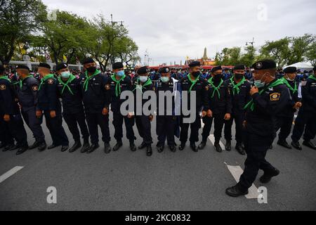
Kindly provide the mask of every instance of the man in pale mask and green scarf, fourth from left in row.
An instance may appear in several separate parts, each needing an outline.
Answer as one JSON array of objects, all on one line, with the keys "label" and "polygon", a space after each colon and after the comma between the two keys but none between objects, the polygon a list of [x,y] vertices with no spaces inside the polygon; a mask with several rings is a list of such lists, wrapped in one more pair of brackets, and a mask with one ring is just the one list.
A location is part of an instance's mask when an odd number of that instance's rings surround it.
[{"label": "man in pale mask and green scarf, fourth from left in row", "polygon": [[86,116],[84,115],[84,105],[82,105],[82,92],[80,80],[70,73],[69,68],[65,63],[59,63],[56,66],[58,73],[58,97],[62,98],[62,116],[72,133],[74,145],[69,152],[73,153],[81,147],[80,133],[81,130],[84,144],[81,148],[81,153],[86,153],[89,145],[89,132],[86,126]]}]

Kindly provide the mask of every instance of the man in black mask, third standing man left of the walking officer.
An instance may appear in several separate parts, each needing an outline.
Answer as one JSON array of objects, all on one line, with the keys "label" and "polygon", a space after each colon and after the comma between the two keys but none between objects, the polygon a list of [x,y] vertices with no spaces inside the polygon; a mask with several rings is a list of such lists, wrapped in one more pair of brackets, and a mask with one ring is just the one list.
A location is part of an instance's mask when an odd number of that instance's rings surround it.
[{"label": "man in black mask, third standing man left of the walking officer", "polygon": [[[181,113],[180,117],[180,146],[179,150],[183,150],[185,148],[185,143],[187,142],[187,133],[189,126],[191,127],[190,134],[190,148],[197,152],[198,148],[195,145],[197,141],[199,141],[199,129],[201,128],[201,116],[205,117],[209,110],[209,95],[208,95],[208,87],[207,82],[200,77],[201,71],[201,63],[199,61],[195,61],[189,64],[190,74],[187,75],[184,79],[181,80],[181,90],[187,91],[187,105],[190,111],[195,111],[195,120],[191,121],[191,123],[185,123],[183,120],[188,116],[183,115]],[[190,103],[190,95],[191,91],[195,91],[196,94],[196,108],[191,108]],[[202,115],[200,115],[202,111]]]}]

